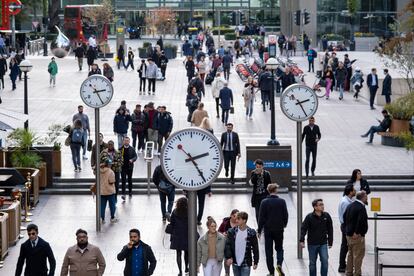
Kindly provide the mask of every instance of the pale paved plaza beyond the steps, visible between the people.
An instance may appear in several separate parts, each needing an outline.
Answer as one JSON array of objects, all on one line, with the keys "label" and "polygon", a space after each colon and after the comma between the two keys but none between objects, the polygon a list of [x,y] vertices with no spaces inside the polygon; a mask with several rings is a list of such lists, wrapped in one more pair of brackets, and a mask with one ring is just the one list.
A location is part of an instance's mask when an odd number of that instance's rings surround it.
[{"label": "pale paved plaza beyond the steps, visible between the people", "polygon": [[[114,44],[114,41],[111,41]],[[127,40],[128,46],[137,48],[136,40]],[[114,45],[112,45],[114,49]],[[138,55],[137,55],[138,56]],[[352,58],[352,52],[350,53]],[[29,56],[28,59],[34,65],[29,73],[29,118],[30,128],[40,136],[45,135],[48,126],[54,123],[70,124],[72,115],[77,112],[77,106],[82,104],[79,96],[81,82],[87,77],[87,70],[79,72],[74,56],[57,59],[59,73],[56,87],[49,87],[47,64],[50,57]],[[307,68],[304,57],[293,57],[302,68]],[[131,69],[117,70],[113,59],[108,61],[114,67],[115,81],[113,83],[115,95],[112,102],[101,110],[101,132],[105,141],[116,137],[113,133],[113,116],[119,107],[121,100],[127,101],[127,106],[132,110],[136,103],[142,105],[153,101],[155,105],[166,105],[167,110],[174,118],[173,130],[179,130],[189,126],[186,121],[187,107],[185,97],[187,89],[187,77],[182,58],[170,60],[167,68],[167,79],[157,82],[155,96],[138,95],[138,74]],[[381,60],[378,58],[378,63]],[[86,62],[85,62],[86,63]],[[102,61],[98,62],[102,68]],[[139,64],[138,57],[135,63]],[[86,66],[85,66],[86,67]],[[309,83],[313,83],[314,75],[307,76]],[[229,87],[233,90],[235,99],[235,114],[230,115],[230,121],[234,123],[234,130],[239,133],[242,144],[242,158],[236,167],[236,177],[244,177],[246,153],[248,144],[265,144],[270,138],[270,111],[263,112],[260,105],[260,95],[257,95],[253,120],[246,120],[244,102],[241,96],[243,82],[234,70],[230,75]],[[380,93],[378,93],[380,94]],[[381,97],[381,96],[380,96]],[[6,88],[2,95],[3,104],[0,106],[6,110],[23,111],[23,81],[18,82],[17,90],[11,91],[10,80],[6,76]],[[205,109],[209,112],[214,133],[219,137],[225,131],[219,119],[215,118],[215,102],[211,95],[211,87],[206,86],[206,97],[203,99]],[[86,107],[85,113],[89,115],[92,132],[94,130],[94,115],[91,108]],[[338,100],[337,92],[329,101],[320,99],[319,109],[316,113],[316,124],[321,128],[322,140],[318,147],[317,175],[350,175],[352,170],[360,168],[365,175],[412,175],[414,174],[414,154],[403,148],[382,146],[379,136],[374,139],[373,145],[365,144],[366,139],[360,137],[371,125],[376,125],[377,118],[381,118],[381,107],[369,110],[368,103],[361,99],[355,102],[350,93],[345,93],[343,101]],[[21,123],[23,127],[23,122]],[[277,139],[281,144],[292,145],[292,159],[296,156],[296,125],[288,120],[281,112],[279,98],[276,99],[276,131]],[[62,137],[62,141],[65,137]],[[89,160],[83,161],[85,168],[81,173],[75,173],[71,166],[69,147],[63,147],[63,174],[64,178],[92,177]],[[155,160],[157,162],[158,160]],[[145,177],[145,161],[140,156],[135,164],[134,176]],[[153,166],[155,167],[155,166]],[[296,164],[293,162],[293,174],[296,174]],[[224,174],[224,173],[223,173]],[[223,175],[221,175],[223,176]]]}]

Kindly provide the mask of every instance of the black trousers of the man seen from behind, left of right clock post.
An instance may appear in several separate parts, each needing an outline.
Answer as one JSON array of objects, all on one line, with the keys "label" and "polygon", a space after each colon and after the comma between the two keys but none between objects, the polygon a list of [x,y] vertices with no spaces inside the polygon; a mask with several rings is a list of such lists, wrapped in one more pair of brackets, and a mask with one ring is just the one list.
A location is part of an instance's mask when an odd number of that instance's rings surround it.
[{"label": "black trousers of the man seen from behind, left of right clock post", "polygon": [[276,250],[277,265],[283,264],[283,230],[269,231],[265,230],[265,253],[266,265],[270,274],[275,273],[275,266],[273,261],[273,243]]}]

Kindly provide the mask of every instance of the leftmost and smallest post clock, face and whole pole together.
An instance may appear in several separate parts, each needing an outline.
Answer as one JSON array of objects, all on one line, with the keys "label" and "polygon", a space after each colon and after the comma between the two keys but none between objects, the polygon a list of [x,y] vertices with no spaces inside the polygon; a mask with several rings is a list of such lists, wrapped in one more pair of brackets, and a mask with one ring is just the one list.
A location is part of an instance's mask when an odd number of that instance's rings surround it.
[{"label": "leftmost and smallest post clock, face and whole pole together", "polygon": [[96,187],[96,232],[101,231],[101,183],[100,183],[100,147],[99,147],[99,109],[106,106],[114,95],[112,83],[104,76],[92,75],[84,80],[80,87],[83,102],[95,109],[95,187]]}]

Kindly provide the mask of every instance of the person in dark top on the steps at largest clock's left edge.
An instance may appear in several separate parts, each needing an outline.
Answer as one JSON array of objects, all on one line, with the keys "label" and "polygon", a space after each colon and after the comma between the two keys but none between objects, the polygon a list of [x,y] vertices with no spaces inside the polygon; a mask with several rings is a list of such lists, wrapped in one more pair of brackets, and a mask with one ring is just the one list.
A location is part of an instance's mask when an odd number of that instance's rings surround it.
[{"label": "person in dark top on the steps at largest clock's left edge", "polygon": [[[165,177],[164,172],[162,171],[161,165],[158,165],[152,175],[152,181],[158,189],[158,194],[160,196],[161,203],[161,215],[162,221],[165,222],[167,219],[170,219],[172,207],[174,205],[175,199],[175,186],[171,184],[168,179]],[[168,200],[168,206],[167,204]]]}]

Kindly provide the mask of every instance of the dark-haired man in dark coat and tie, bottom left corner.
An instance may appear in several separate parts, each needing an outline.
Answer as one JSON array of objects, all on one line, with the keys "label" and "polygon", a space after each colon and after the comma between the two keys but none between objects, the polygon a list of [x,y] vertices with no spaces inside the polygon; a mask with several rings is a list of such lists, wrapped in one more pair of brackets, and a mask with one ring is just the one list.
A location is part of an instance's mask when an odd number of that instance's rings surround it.
[{"label": "dark-haired man in dark coat and tie, bottom left corner", "polygon": [[[38,236],[39,229],[35,224],[27,226],[29,239],[20,247],[20,255],[17,261],[15,276],[20,276],[23,271],[23,264],[26,261],[24,270],[25,276],[53,276],[55,275],[56,260],[53,256],[49,243]],[[46,259],[49,260],[49,272]]]}]

